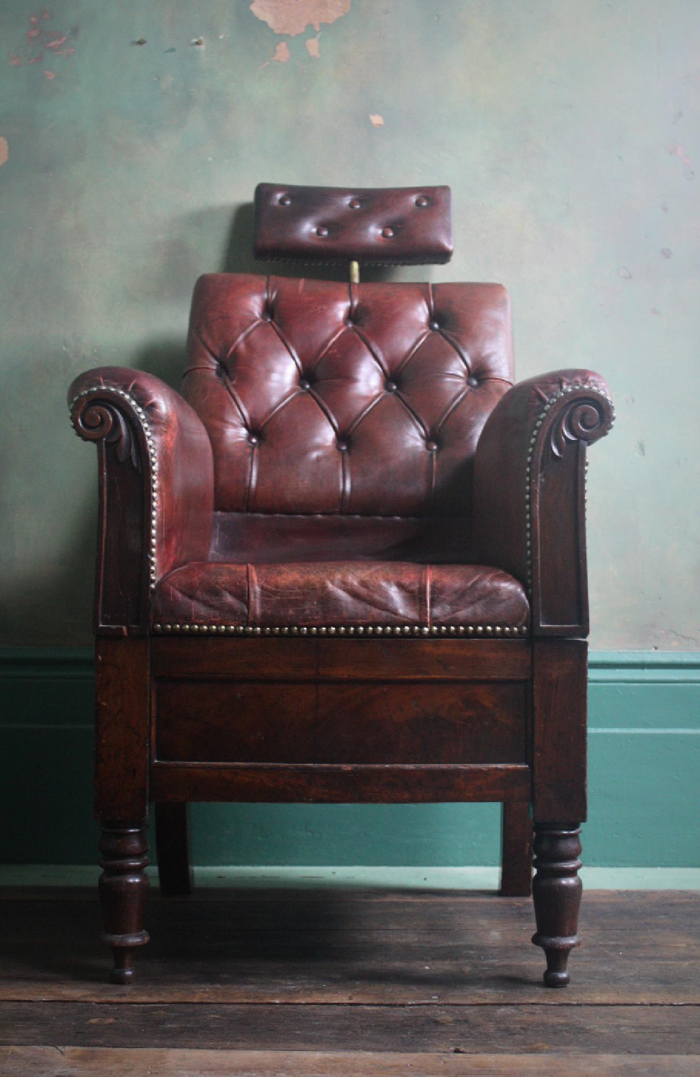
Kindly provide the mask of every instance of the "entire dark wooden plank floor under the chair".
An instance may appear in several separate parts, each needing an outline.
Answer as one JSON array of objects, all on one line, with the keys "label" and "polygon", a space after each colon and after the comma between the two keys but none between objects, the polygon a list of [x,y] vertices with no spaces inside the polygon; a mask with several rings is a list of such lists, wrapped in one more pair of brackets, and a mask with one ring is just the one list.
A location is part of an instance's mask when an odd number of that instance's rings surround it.
[{"label": "entire dark wooden plank floor under the chair", "polygon": [[2,1074],[700,1075],[698,893],[587,893],[565,991],[526,898],[155,891],[129,987],[90,892],[0,905]]}]

